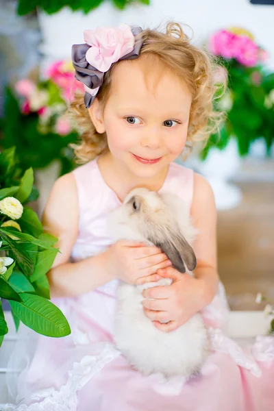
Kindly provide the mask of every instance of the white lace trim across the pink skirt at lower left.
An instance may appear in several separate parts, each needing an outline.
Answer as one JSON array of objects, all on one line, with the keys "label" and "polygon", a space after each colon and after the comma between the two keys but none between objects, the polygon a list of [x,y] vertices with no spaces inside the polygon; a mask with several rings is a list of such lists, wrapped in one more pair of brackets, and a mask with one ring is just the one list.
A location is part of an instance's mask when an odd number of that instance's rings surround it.
[{"label": "white lace trim across the pink skirt at lower left", "polygon": [[[98,356],[85,356],[80,362],[73,364],[69,371],[69,379],[60,390],[47,388],[32,395],[32,400],[39,402],[30,406],[21,404],[14,406],[5,404],[1,411],[76,411],[77,391],[81,390],[95,374],[103,367],[120,355],[114,345],[104,343],[102,351]],[[58,408],[57,408],[58,406]]]}]

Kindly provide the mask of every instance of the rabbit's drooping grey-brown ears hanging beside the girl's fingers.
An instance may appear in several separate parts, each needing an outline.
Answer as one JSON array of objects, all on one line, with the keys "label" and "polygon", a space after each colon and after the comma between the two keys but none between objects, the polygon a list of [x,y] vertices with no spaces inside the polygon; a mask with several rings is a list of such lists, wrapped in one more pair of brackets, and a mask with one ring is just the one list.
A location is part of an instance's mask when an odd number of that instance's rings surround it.
[{"label": "rabbit's drooping grey-brown ears hanging beside the girl's fingers", "polygon": [[179,232],[171,232],[171,229],[167,229],[167,227],[162,227],[162,229],[162,238],[152,234],[148,240],[153,242],[156,247],[160,247],[180,273],[186,273],[184,264],[186,264],[189,271],[193,271],[197,264],[196,256],[184,236]]}]

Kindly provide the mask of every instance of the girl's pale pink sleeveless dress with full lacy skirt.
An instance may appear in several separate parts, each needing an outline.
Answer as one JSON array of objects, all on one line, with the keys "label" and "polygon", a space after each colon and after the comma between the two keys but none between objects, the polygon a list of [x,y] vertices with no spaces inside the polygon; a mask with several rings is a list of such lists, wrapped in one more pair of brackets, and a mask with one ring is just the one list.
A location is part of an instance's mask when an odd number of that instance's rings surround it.
[{"label": "girl's pale pink sleeveless dress with full lacy skirt", "polygon": [[[79,234],[72,251],[81,260],[110,245],[106,216],[120,205],[105,184],[97,161],[73,171],[79,195]],[[193,172],[171,164],[161,192],[179,195],[190,207]],[[89,273],[92,275],[92,273]],[[142,376],[114,346],[116,305],[114,280],[77,298],[55,299],[71,325],[71,335],[46,338],[30,335],[25,371],[14,387],[20,411],[273,411],[274,338],[260,336],[247,350],[221,331],[229,310],[223,286],[203,318],[212,354],[201,375],[186,382],[161,375]],[[29,333],[29,331],[28,331]],[[29,353],[29,351],[32,351]],[[23,349],[21,348],[21,356]],[[26,360],[27,358],[27,360]]]}]

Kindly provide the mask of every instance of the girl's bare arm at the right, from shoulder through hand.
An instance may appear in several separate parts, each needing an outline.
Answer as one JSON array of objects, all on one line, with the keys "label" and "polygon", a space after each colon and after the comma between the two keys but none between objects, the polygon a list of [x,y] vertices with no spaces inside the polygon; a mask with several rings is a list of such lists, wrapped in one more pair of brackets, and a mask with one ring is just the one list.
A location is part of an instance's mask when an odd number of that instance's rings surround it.
[{"label": "girl's bare arm at the right, from shoulder through hand", "polygon": [[186,323],[208,306],[218,289],[214,195],[210,184],[198,174],[195,174],[191,216],[193,225],[199,230],[193,245],[197,257],[195,277],[182,275],[173,267],[160,269],[158,273],[172,278],[173,284],[143,292],[145,313],[162,331],[169,332]]}]

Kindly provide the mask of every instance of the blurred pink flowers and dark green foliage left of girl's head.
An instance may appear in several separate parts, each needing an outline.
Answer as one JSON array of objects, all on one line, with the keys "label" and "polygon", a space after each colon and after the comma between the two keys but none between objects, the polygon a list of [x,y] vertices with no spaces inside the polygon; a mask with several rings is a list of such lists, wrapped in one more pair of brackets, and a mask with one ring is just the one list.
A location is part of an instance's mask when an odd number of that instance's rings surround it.
[{"label": "blurred pink flowers and dark green foliage left of girl's head", "polygon": [[4,148],[16,146],[21,168],[41,169],[59,159],[61,174],[75,166],[70,143],[77,142],[79,129],[66,115],[75,91],[84,87],[75,81],[71,62],[49,66],[43,79],[21,79],[4,95]]}]

